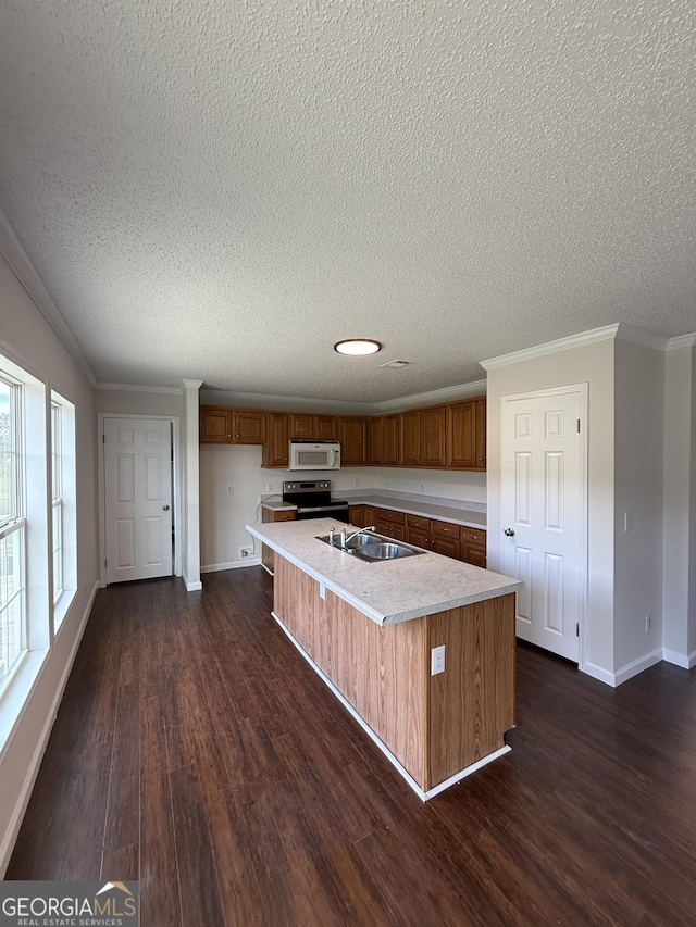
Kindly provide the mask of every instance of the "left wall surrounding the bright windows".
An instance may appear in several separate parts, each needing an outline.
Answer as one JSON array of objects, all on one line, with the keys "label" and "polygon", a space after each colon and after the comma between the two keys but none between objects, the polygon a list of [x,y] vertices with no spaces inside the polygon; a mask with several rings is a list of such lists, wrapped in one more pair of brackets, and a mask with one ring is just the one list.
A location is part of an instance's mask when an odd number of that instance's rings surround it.
[{"label": "left wall surrounding the bright windows", "polygon": [[0,259],[0,350],[75,404],[77,577],[75,599],[0,754],[0,875],[7,868],[67,674],[97,589],[97,510],[92,390],[45,316]]}]

